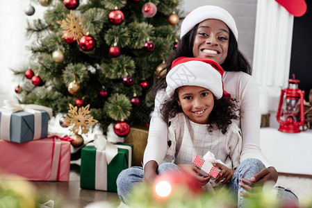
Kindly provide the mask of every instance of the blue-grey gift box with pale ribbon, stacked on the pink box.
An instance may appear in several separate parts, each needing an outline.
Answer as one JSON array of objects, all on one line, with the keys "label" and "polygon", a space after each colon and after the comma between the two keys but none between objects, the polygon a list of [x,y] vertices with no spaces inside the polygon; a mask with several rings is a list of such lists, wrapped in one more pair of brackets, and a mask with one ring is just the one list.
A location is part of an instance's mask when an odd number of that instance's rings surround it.
[{"label": "blue-grey gift box with pale ribbon, stacked on the pink box", "polygon": [[0,139],[24,143],[47,137],[51,108],[8,101],[5,104],[0,108]]}]

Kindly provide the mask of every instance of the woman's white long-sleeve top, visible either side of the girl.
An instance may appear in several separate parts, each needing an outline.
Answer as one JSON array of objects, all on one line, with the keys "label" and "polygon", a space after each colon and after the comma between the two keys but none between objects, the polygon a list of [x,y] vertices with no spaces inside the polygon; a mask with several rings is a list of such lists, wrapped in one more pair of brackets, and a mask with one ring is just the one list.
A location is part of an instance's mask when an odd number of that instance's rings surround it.
[{"label": "woman's white long-sleeve top, visible either side of the girl", "polygon": [[[260,159],[265,167],[271,166],[270,162],[261,153],[260,148],[260,112],[259,96],[256,80],[247,73],[238,71],[224,71],[224,90],[236,98],[239,110],[239,120],[233,120],[242,130],[243,149],[240,154],[240,163],[248,158]],[[167,152],[167,123],[161,118],[159,107],[166,99],[165,90],[156,94],[155,110],[149,126],[149,137],[145,148],[144,165],[154,160],[160,165]]]}]

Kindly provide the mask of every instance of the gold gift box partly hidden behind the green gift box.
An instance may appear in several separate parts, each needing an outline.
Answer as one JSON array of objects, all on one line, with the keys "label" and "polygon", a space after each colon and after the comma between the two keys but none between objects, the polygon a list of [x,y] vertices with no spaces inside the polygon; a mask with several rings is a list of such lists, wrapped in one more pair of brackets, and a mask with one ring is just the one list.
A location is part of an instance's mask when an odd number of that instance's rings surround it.
[{"label": "gold gift box partly hidden behind the green gift box", "polygon": [[142,166],[147,137],[149,137],[148,126],[132,125],[129,135],[124,138],[124,144],[133,145],[133,166]]}]

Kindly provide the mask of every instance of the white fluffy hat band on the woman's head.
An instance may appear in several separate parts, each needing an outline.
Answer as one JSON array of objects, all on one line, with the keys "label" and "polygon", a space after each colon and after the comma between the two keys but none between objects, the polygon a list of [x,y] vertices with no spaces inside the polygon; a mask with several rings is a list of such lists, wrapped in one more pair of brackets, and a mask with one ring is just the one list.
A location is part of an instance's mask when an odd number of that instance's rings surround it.
[{"label": "white fluffy hat band on the woman's head", "polygon": [[186,35],[188,31],[192,30],[195,25],[206,19],[219,19],[223,21],[231,29],[236,41],[238,41],[238,30],[233,17],[227,10],[211,5],[200,6],[186,15],[186,18],[184,18],[181,24],[180,38],[182,38],[183,35]]}]

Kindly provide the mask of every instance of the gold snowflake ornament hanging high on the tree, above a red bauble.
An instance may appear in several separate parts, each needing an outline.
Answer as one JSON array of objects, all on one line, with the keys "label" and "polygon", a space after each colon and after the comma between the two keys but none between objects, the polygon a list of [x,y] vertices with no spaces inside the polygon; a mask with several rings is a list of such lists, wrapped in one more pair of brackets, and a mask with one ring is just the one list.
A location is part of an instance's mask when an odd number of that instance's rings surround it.
[{"label": "gold snowflake ornament hanging high on the tree, above a red bauble", "polygon": [[63,28],[63,35],[67,34],[67,37],[73,37],[79,43],[79,40],[83,35],[85,35],[85,31],[81,26],[81,20],[77,17],[72,10],[70,10],[70,14],[67,15],[66,19],[56,21],[56,23],[60,24],[60,27]]}]

